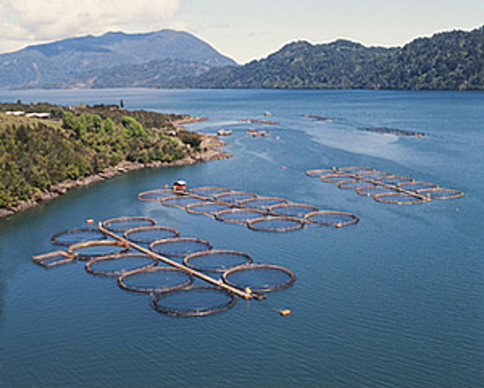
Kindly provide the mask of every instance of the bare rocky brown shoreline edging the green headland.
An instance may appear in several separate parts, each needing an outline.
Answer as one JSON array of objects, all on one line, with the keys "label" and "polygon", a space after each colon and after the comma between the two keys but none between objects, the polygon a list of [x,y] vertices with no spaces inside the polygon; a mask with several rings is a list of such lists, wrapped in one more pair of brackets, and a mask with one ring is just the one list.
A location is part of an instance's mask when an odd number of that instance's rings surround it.
[{"label": "bare rocky brown shoreline edging the green headland", "polygon": [[[207,118],[204,117],[191,117],[186,119],[181,119],[173,121],[173,125],[179,128],[182,124],[191,124],[194,122],[205,121]],[[32,209],[38,205],[42,205],[47,201],[55,199],[61,195],[68,193],[70,190],[91,185],[96,182],[105,181],[114,178],[118,175],[127,174],[131,171],[137,171],[145,168],[156,168],[156,167],[171,167],[171,166],[190,166],[198,163],[210,162],[213,160],[228,159],[232,156],[228,152],[222,151],[219,148],[226,145],[225,142],[221,141],[218,136],[209,134],[200,134],[203,140],[200,144],[200,149],[204,148],[206,151],[195,152],[192,155],[187,155],[183,159],[175,160],[173,162],[149,162],[149,163],[138,163],[138,162],[121,162],[116,166],[107,167],[100,173],[89,175],[76,180],[66,180],[55,185],[52,185],[49,191],[46,191],[40,195],[30,198],[25,201],[20,201],[16,206],[9,208],[0,208],[0,219],[5,219],[5,217],[23,212],[24,210]]]}]

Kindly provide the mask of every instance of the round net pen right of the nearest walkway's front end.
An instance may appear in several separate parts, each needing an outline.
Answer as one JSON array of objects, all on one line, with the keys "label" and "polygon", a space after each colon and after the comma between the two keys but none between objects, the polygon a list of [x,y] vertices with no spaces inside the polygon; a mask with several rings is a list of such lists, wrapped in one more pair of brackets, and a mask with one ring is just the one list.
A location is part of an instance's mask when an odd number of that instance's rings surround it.
[{"label": "round net pen right of the nearest walkway's front end", "polygon": [[224,272],[222,280],[239,289],[250,288],[254,292],[268,292],[291,286],[296,281],[296,276],[284,267],[250,264]]}]

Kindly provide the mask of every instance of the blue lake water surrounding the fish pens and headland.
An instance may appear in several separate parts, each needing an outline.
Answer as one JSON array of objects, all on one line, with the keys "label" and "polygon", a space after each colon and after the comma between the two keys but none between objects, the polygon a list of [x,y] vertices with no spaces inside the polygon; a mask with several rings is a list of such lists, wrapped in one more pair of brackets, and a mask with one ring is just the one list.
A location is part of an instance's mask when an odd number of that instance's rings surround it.
[{"label": "blue lake water surrounding the fish pens and headland", "polygon": [[[210,117],[231,129],[229,160],[137,171],[0,220],[0,385],[484,386],[484,94],[471,92],[76,90],[2,91],[0,100],[118,103]],[[271,111],[253,139],[238,123]],[[337,118],[313,121],[305,113]],[[356,131],[377,125],[423,139]],[[279,139],[276,139],[276,136]],[[463,190],[451,201],[377,203],[305,176],[363,165]],[[286,166],[286,169],[282,169]],[[176,179],[344,210],[359,224],[290,233],[242,226],[136,200]],[[145,295],[86,274],[44,270],[33,254],[85,219],[139,215],[240,250],[298,277],[262,302],[203,318],[156,313]],[[289,308],[290,317],[275,309]]]}]

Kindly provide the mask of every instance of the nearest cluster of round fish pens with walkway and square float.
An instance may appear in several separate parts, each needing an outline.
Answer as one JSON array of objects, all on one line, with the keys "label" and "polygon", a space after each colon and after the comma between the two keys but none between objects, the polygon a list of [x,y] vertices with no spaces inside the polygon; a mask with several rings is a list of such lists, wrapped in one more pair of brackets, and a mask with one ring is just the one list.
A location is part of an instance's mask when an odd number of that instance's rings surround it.
[{"label": "nearest cluster of round fish pens with walkway and square float", "polygon": [[[51,242],[67,248],[33,256],[36,264],[52,268],[85,261],[87,273],[116,277],[120,288],[150,294],[151,306],[172,316],[224,311],[237,297],[262,300],[263,292],[281,290],[296,281],[284,267],[255,264],[247,253],[213,249],[200,238],[180,237],[176,229],[155,225],[148,217],[112,218],[97,228],[56,233]],[[209,285],[193,285],[195,278]]]}]

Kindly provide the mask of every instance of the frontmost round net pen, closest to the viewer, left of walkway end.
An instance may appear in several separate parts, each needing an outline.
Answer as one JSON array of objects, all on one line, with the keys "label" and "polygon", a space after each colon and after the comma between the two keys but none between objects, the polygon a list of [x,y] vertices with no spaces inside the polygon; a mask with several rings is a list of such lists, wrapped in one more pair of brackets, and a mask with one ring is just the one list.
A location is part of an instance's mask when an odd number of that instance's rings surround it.
[{"label": "frontmost round net pen, closest to the viewer, left of walkway end", "polygon": [[218,287],[192,286],[155,295],[151,306],[172,316],[196,317],[225,311],[236,303],[235,296]]}]

